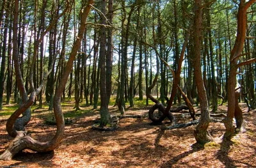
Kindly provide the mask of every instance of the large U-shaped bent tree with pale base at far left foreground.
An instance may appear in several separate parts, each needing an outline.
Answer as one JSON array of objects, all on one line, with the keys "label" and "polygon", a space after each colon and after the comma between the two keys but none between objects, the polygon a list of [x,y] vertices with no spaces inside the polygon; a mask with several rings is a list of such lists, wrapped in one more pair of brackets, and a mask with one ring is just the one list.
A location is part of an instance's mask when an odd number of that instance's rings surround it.
[{"label": "large U-shaped bent tree with pale base at far left foreground", "polygon": [[[76,58],[77,51],[81,46],[81,40],[83,39],[84,35],[84,29],[86,28],[86,19],[88,17],[90,8],[92,7],[93,0],[88,1],[88,4],[86,6],[83,6],[81,9],[81,20],[80,20],[80,27],[77,34],[76,41],[74,42],[74,45],[72,47],[72,51],[70,53],[70,57],[67,61],[67,65],[65,66],[65,71],[63,72],[63,76],[60,80],[60,85],[56,89],[55,95],[54,95],[54,101],[53,101],[53,107],[54,107],[54,116],[56,118],[56,125],[57,125],[57,131],[54,137],[51,139],[51,141],[48,142],[39,142],[35,139],[31,138],[29,135],[26,135],[26,132],[24,131],[17,131],[14,128],[15,120],[22,114],[26,109],[30,107],[30,105],[33,104],[35,101],[36,95],[40,93],[40,89],[44,86],[44,82],[35,90],[31,91],[31,94],[29,96],[29,99],[24,102],[19,109],[17,109],[12,116],[8,119],[8,122],[6,124],[6,129],[8,130],[8,133],[11,135],[16,135],[15,139],[10,143],[8,149],[4,151],[2,155],[0,155],[0,160],[10,160],[12,157],[19,153],[19,151],[22,151],[23,149],[32,149],[33,151],[38,152],[46,152],[46,151],[52,151],[54,150],[61,142],[61,139],[63,138],[64,134],[64,118],[63,113],[61,111],[61,95],[63,93],[63,89],[65,89],[65,84],[68,79],[68,75],[72,69],[73,61]],[[68,3],[69,6],[69,3]],[[70,6],[69,6],[70,7]],[[69,8],[68,7],[68,8]],[[17,20],[18,20],[18,11],[19,11],[19,1],[15,0],[15,11],[14,11],[14,18],[13,18],[13,25],[16,24],[16,29],[13,28],[13,37],[17,36]],[[13,43],[13,50],[17,49],[16,46],[17,42]],[[49,72],[48,72],[49,74]],[[47,76],[46,74],[45,76]],[[47,77],[44,77],[45,81]]]}]

